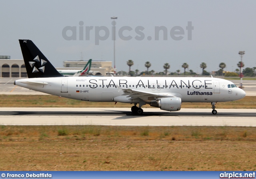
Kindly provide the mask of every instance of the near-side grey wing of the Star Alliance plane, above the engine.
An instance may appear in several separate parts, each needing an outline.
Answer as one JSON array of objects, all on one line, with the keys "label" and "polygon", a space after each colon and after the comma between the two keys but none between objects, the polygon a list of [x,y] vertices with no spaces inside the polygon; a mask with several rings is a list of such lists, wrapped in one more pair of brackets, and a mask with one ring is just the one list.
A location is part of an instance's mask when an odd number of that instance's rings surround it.
[{"label": "near-side grey wing of the Star Alliance plane, above the engine", "polygon": [[170,95],[168,93],[151,93],[146,91],[140,91],[140,90],[132,90],[132,89],[122,89],[124,93],[122,95],[126,95],[127,97],[130,97],[129,99],[137,99],[140,98],[142,100],[153,100],[161,97],[176,97],[174,95]]}]

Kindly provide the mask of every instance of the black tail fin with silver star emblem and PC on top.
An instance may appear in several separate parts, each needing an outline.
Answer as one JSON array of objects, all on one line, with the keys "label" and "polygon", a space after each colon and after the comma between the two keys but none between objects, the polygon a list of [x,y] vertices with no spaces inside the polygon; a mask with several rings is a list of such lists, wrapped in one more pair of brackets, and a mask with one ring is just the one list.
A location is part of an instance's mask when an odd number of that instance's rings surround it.
[{"label": "black tail fin with silver star emblem and PC on top", "polygon": [[28,78],[63,77],[31,40],[19,40]]}]

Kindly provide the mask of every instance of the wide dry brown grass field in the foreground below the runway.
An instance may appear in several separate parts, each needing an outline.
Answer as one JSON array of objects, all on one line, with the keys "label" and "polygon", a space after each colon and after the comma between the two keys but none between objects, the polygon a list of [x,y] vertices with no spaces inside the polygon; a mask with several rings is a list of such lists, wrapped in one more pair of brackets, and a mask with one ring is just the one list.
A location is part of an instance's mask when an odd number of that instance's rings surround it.
[{"label": "wide dry brown grass field in the foreground below the runway", "polygon": [[255,171],[255,129],[2,125],[0,170]]}]

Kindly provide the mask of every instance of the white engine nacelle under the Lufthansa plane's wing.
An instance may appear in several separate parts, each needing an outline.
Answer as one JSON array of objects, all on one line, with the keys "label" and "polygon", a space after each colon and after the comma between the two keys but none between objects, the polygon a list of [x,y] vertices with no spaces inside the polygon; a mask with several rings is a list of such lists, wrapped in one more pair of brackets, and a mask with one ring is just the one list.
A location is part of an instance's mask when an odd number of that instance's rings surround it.
[{"label": "white engine nacelle under the Lufthansa plane's wing", "polygon": [[150,106],[160,107],[160,109],[165,111],[179,111],[181,108],[181,98],[180,97],[163,97],[158,99],[156,102],[151,102]]}]

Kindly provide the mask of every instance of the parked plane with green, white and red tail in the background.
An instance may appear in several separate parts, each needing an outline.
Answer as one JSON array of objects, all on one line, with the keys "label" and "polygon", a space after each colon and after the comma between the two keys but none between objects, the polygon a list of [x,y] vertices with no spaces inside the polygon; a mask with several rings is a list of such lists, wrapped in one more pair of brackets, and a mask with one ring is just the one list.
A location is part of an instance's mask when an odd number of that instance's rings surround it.
[{"label": "parked plane with green, white and red tail in the background", "polygon": [[83,70],[57,70],[60,74],[65,76],[82,76],[93,74],[93,71],[90,71],[92,65],[92,59],[90,59],[87,64],[84,66]]}]

